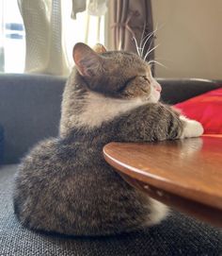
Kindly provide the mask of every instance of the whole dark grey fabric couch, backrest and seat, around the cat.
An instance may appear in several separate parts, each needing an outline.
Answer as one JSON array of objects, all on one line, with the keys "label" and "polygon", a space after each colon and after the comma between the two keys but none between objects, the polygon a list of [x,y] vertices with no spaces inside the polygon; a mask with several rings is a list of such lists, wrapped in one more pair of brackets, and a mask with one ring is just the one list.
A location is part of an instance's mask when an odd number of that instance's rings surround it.
[{"label": "whole dark grey fabric couch, backrest and seat, around the cat", "polygon": [[[219,81],[159,79],[173,104],[221,87]],[[160,225],[110,237],[66,237],[25,230],[13,214],[17,163],[35,143],[58,133],[64,77],[0,75],[0,124],[5,132],[0,167],[0,255],[222,255],[222,232],[172,211]]]}]

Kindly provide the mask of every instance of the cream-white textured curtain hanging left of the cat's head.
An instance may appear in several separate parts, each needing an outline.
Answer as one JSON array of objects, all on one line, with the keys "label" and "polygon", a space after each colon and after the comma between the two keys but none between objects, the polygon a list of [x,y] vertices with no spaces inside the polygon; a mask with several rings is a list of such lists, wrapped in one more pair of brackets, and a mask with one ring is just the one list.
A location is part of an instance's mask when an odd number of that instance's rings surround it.
[{"label": "cream-white textured curtain hanging left of the cat's head", "polygon": [[25,72],[66,76],[61,0],[18,0],[24,19]]}]

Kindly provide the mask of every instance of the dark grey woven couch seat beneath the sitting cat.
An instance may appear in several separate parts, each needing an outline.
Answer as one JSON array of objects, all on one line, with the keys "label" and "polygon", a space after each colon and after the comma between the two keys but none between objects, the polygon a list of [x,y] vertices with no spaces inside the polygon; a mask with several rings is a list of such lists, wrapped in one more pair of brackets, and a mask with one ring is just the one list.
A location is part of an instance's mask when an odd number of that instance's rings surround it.
[{"label": "dark grey woven couch seat beneath the sitting cat", "polygon": [[181,213],[171,213],[161,225],[112,237],[66,237],[21,227],[12,210],[16,165],[0,168],[0,255],[220,255],[222,233]]}]

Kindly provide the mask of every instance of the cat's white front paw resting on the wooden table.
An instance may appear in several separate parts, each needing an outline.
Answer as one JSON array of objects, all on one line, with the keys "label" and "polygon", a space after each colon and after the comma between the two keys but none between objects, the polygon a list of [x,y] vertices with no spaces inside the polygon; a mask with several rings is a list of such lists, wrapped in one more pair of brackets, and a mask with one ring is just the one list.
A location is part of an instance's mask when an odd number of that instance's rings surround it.
[{"label": "cat's white front paw resting on the wooden table", "polygon": [[180,116],[183,123],[183,130],[181,138],[199,137],[203,134],[202,125],[195,120],[190,120],[184,116]]}]

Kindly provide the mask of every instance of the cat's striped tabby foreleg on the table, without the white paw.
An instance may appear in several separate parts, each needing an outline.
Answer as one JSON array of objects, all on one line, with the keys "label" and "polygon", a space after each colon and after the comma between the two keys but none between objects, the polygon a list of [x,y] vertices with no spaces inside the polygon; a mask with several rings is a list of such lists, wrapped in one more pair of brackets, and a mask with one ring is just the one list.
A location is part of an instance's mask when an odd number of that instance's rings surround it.
[{"label": "cat's striped tabby foreleg on the table, without the white paw", "polygon": [[[148,104],[116,120],[120,142],[152,142],[178,139],[185,123],[178,111],[163,104]],[[115,135],[114,135],[115,136]]]}]

